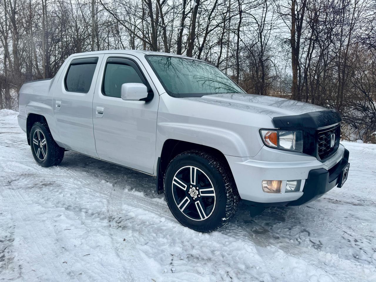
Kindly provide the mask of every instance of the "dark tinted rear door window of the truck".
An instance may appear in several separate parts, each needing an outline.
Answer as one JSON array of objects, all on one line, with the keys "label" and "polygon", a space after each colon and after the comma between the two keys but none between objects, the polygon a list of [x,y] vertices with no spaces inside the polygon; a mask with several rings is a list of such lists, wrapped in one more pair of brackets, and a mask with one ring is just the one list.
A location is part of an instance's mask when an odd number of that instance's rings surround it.
[{"label": "dark tinted rear door window of the truck", "polygon": [[98,58],[74,59],[65,76],[65,90],[69,92],[89,92]]}]

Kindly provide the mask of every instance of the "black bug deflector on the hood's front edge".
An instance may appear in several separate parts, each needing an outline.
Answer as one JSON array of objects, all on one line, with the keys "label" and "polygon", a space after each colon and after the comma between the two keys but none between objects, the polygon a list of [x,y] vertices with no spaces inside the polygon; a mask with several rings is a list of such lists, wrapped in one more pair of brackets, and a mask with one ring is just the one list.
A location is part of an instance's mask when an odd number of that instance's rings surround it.
[{"label": "black bug deflector on the hood's front edge", "polygon": [[320,128],[340,123],[341,120],[336,109],[273,117],[274,125],[278,128]]}]

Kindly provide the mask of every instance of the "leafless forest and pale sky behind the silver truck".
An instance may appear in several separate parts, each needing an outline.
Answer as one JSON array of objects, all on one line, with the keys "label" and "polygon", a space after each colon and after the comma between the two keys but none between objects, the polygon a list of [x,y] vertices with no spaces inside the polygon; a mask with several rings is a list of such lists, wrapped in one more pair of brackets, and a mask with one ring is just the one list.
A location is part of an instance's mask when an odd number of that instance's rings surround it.
[{"label": "leafless forest and pale sky behind the silver truck", "polygon": [[376,0],[1,0],[0,109],[108,49],[205,60],[249,93],[337,108],[344,139],[375,142]]}]

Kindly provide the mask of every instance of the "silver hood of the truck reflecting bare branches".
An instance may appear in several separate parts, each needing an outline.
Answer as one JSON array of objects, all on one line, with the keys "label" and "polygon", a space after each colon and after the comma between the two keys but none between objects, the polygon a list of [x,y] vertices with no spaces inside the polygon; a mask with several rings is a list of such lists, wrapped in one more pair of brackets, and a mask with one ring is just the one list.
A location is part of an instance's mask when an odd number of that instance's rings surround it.
[{"label": "silver hood of the truck reflecting bare branches", "polygon": [[255,94],[214,94],[202,97],[183,98],[195,100],[226,108],[239,109],[269,117],[280,117],[287,115],[300,115],[308,112],[326,110],[326,108],[309,103]]}]

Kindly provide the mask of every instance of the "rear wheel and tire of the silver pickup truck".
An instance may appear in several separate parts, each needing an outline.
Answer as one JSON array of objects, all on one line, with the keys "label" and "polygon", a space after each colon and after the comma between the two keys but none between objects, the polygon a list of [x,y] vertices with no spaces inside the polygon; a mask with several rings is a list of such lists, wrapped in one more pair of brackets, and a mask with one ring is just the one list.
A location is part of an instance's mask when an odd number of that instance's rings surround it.
[{"label": "rear wheel and tire of the silver pickup truck", "polygon": [[53,139],[45,122],[36,122],[30,130],[30,148],[38,165],[50,167],[59,165],[64,158],[64,148]]}]

